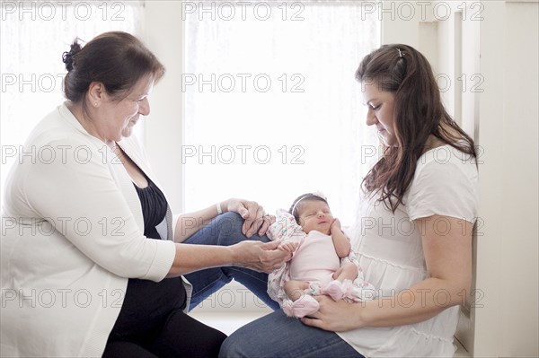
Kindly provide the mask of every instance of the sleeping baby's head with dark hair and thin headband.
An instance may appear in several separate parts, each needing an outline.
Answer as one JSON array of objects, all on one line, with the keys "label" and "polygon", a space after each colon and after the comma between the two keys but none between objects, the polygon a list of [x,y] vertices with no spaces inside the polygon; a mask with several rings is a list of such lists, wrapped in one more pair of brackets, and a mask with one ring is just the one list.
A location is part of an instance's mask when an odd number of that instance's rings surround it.
[{"label": "sleeping baby's head with dark hair and thin headband", "polygon": [[313,193],[297,196],[289,212],[296,218],[296,223],[301,225],[305,233],[312,230],[320,231],[326,235],[331,233],[333,215],[330,205],[323,196]]}]

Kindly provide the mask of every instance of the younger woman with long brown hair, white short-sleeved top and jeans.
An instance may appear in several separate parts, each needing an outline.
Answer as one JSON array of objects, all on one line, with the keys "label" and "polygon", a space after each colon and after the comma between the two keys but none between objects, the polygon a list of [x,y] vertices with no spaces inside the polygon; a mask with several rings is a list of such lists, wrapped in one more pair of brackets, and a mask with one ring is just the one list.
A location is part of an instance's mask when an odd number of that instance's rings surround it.
[{"label": "younger woman with long brown hair, white short-sleeved top and jeans", "polygon": [[363,180],[353,243],[378,297],[350,304],[318,296],[318,312],[301,321],[270,313],[228,337],[223,357],[454,354],[458,304],[472,280],[479,197],[473,141],[447,114],[416,49],[378,48],[356,76],[367,125],[384,144]]}]

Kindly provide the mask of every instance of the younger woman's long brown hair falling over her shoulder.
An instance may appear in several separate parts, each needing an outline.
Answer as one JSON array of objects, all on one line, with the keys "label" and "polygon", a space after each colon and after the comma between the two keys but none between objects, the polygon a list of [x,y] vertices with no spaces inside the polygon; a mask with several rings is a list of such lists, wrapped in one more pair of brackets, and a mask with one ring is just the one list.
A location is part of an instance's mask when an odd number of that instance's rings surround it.
[{"label": "younger woman's long brown hair falling over her shoulder", "polygon": [[429,135],[476,157],[473,139],[449,116],[429,61],[407,45],[384,45],[363,58],[356,71],[360,83],[376,83],[393,92],[396,146],[363,179],[367,193],[380,192],[380,201],[394,213],[410,186]]}]

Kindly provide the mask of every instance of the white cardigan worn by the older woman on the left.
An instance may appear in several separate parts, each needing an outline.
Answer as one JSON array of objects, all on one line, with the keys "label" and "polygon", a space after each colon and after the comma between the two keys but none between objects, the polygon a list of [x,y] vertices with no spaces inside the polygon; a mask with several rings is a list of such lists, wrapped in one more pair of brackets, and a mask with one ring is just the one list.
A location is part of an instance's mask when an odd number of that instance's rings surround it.
[{"label": "white cardigan worn by the older woman on the left", "polygon": [[[119,145],[155,181],[136,141]],[[0,355],[101,356],[128,278],[158,282],[172,266],[170,207],[166,223],[168,240],[146,240],[137,191],[110,148],[66,104],[43,118],[5,186]]]}]

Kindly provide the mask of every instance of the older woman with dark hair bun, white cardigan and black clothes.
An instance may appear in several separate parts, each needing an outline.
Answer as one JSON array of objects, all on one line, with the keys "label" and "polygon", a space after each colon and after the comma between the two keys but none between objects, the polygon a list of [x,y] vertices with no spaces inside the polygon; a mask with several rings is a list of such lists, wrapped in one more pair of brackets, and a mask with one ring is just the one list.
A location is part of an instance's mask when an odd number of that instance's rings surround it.
[{"label": "older woman with dark hair bun, white cardigan and black clothes", "polygon": [[31,132],[22,151],[36,155],[6,183],[2,355],[215,356],[225,335],[186,315],[192,287],[182,275],[225,266],[193,276],[198,300],[215,270],[221,284],[237,274],[264,292],[267,275],[251,269],[270,272],[287,254],[243,233],[262,235],[273,218],[228,199],[183,215],[196,226],[172,223],[131,137],[163,65],[124,32],[84,48],[75,40],[63,59],[67,100]]}]

